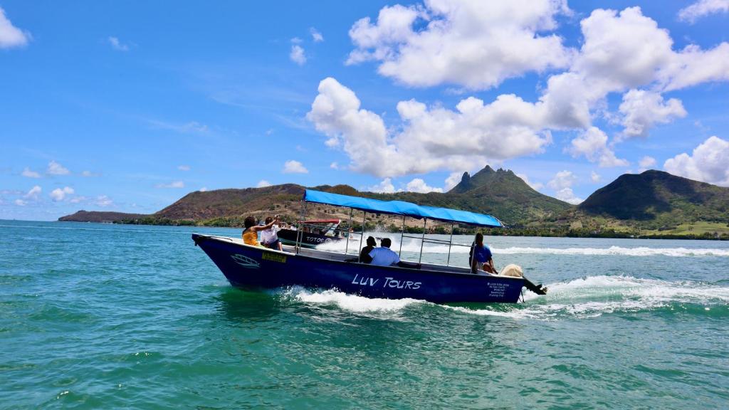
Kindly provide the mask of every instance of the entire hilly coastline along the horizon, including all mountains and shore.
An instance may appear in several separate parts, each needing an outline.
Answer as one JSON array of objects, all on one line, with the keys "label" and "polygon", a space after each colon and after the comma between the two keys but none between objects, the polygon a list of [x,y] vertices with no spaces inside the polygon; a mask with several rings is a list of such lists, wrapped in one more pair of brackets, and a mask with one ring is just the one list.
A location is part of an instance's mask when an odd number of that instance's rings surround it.
[{"label": "entire hilly coastline along the horizon, including all mountains and shore", "polygon": [[[623,174],[596,190],[577,206],[537,192],[512,171],[486,166],[476,174],[464,173],[447,193],[370,193],[348,185],[311,187],[332,193],[399,200],[430,206],[493,214],[507,229],[489,229],[490,235],[572,236],[654,239],[729,240],[729,188],[677,177],[664,171]],[[195,191],[154,214],[79,211],[60,221],[140,225],[200,225],[240,227],[248,215],[263,219],[280,214],[295,222],[306,187],[295,184],[270,187]],[[349,221],[348,210],[313,205],[308,217]],[[368,214],[365,228],[399,231],[402,218]],[[362,228],[362,213],[352,228]],[[429,224],[432,233],[449,233],[450,225]],[[408,232],[422,232],[419,221],[408,221]],[[474,228],[456,227],[456,233]]]}]

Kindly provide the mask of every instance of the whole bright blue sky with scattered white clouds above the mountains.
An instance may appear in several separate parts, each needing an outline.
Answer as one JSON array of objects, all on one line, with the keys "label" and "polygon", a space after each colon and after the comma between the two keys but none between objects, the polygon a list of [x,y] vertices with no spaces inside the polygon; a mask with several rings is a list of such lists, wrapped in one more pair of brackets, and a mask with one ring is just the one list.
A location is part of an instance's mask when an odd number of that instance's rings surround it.
[{"label": "whole bright blue sky with scattered white clouds above the mountains", "polygon": [[729,186],[729,0],[0,0],[0,219],[487,164]]}]

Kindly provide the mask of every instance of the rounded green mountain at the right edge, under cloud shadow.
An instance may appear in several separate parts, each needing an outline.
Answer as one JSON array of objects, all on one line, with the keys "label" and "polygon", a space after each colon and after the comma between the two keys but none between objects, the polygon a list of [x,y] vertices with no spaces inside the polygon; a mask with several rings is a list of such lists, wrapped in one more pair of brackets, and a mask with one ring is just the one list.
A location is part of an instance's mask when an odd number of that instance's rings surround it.
[{"label": "rounded green mountain at the right edge, under cloud shadow", "polygon": [[577,206],[588,215],[648,225],[729,222],[729,188],[663,171],[624,174]]}]

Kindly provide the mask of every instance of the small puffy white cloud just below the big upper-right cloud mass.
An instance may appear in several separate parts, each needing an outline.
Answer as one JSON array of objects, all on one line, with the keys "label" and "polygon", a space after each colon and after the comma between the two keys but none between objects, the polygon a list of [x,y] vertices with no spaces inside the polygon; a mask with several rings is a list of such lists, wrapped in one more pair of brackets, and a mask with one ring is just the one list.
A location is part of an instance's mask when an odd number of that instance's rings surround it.
[{"label": "small puffy white cloud just below the big upper-right cloud mass", "polygon": [[676,98],[663,101],[660,93],[632,89],[623,95],[620,104],[623,115],[622,135],[625,137],[647,136],[648,130],[658,123],[670,123],[675,117],[685,117],[686,110]]}]

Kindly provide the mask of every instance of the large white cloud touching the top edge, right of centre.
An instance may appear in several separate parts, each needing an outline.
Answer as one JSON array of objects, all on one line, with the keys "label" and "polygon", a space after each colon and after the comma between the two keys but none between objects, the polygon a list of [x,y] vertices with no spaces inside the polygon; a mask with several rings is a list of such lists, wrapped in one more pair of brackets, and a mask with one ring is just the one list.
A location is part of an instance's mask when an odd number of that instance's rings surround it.
[{"label": "large white cloud touching the top edge, right of centre", "polygon": [[362,18],[349,36],[356,49],[347,63],[380,61],[380,74],[414,86],[443,83],[470,89],[499,85],[529,71],[566,67],[570,53],[555,34],[564,1],[426,1]]}]

